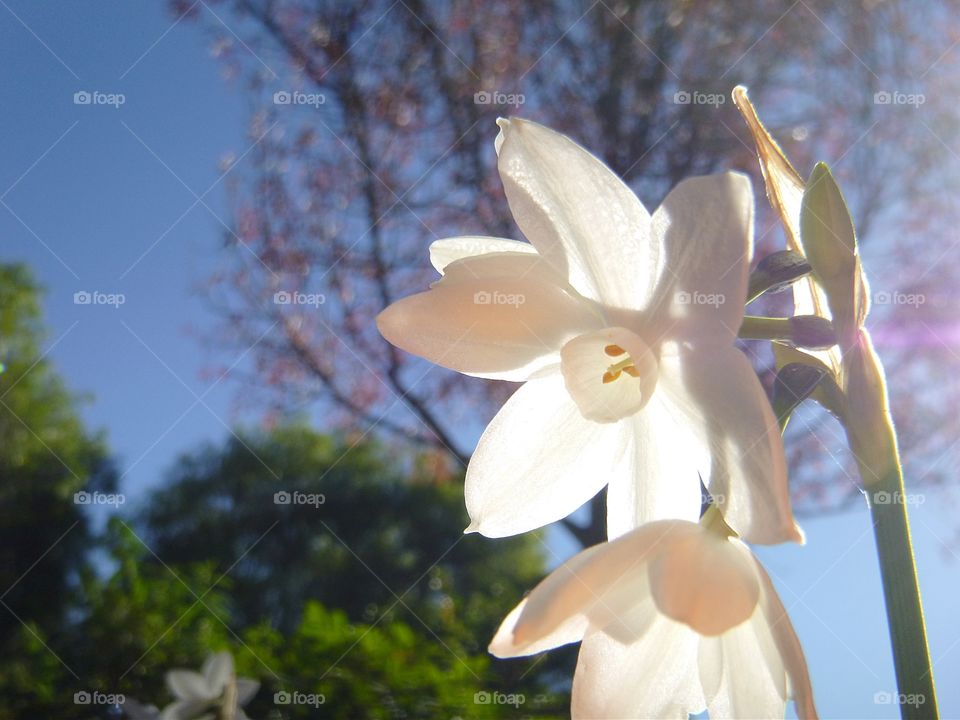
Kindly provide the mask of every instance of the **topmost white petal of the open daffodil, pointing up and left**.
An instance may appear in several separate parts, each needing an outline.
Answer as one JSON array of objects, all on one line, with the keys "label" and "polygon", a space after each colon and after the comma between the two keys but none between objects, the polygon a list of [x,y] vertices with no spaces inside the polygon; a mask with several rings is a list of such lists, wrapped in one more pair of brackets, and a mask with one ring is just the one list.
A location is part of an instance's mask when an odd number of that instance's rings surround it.
[{"label": "topmost white petal of the open daffodil, pointing up and left", "polygon": [[498,168],[523,234],[581,294],[646,306],[659,272],[650,215],[617,175],[570,138],[498,120]]}]

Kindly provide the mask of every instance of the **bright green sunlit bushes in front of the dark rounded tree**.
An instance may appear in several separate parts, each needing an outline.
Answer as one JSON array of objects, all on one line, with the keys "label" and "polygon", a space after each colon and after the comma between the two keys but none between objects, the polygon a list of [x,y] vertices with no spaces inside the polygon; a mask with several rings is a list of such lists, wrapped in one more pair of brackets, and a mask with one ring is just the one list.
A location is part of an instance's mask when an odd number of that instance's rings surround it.
[{"label": "bright green sunlit bushes in front of the dark rounded tree", "polygon": [[508,688],[498,661],[486,653],[454,649],[450,638],[402,619],[353,622],[346,611],[311,600],[290,632],[267,621],[241,627],[230,615],[235,584],[209,563],[173,568],[148,562],[150,551],[118,520],[110,535],[116,569],[105,581],[86,578],[86,615],[64,656],[68,665],[82,668],[82,681],[70,682],[60,672],[55,684],[69,692],[24,706],[35,715],[11,717],[92,717],[98,709],[72,703],[73,693],[81,691],[123,693],[163,707],[173,699],[164,686],[166,671],[197,669],[222,649],[233,653],[238,675],[260,681],[246,707],[258,719],[515,716],[518,705],[476,702],[494,692],[501,700],[522,694],[524,714],[565,712],[562,694],[545,694],[535,679]]}]

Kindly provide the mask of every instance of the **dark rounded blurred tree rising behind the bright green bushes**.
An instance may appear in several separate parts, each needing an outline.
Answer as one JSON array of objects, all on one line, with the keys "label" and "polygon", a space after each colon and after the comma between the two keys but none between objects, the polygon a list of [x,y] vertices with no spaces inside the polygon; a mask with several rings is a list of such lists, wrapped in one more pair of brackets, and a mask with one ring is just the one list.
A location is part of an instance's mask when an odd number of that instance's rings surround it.
[{"label": "dark rounded blurred tree rising behind the bright green bushes", "polygon": [[243,625],[289,631],[317,600],[354,622],[386,613],[482,650],[543,576],[544,546],[464,536],[462,484],[417,473],[373,442],[280,428],[183,458],[142,524],[164,562],[229,570]]}]

